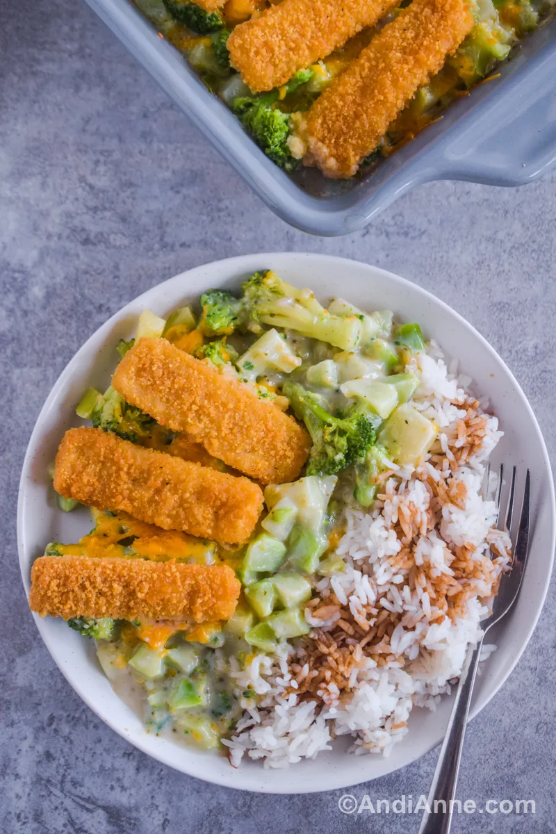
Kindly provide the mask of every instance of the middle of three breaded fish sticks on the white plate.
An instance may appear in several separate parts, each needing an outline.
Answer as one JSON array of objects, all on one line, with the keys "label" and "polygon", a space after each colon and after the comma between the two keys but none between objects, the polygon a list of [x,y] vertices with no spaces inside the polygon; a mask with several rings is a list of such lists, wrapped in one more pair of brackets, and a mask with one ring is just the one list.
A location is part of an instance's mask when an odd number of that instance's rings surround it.
[{"label": "middle of three breaded fish sticks on the white plate", "polygon": [[101,429],[66,432],[54,489],[98,510],[123,510],[163,530],[223,544],[247,540],[263,508],[263,493],[248,478],[144,449]]}]

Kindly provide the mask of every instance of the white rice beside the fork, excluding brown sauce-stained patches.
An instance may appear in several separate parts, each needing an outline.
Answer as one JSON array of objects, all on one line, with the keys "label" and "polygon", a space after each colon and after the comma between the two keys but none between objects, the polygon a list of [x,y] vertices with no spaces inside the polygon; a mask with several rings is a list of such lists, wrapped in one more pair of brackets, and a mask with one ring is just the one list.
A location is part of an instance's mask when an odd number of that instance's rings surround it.
[{"label": "white rice beside the fork, excluding brown sauce-stained patches", "polygon": [[[482,445],[463,465],[452,469],[454,451],[464,442],[458,440],[458,421],[466,414],[470,380],[457,376],[455,364],[448,372],[434,342],[426,354],[412,360],[408,370],[420,378],[413,404],[438,425],[442,464],[431,455],[417,470],[392,464],[393,475],[384,486],[384,500],[376,502],[371,511],[363,511],[348,499],[345,533],[337,547],[345,570],[324,577],[315,589],[323,600],[335,595],[355,621],[365,619],[363,606],[375,603],[398,615],[390,636],[392,660],[379,666],[358,646],[358,663],[348,681],[351,691],[340,692],[329,681],[313,696],[307,692],[304,696],[296,694],[309,673],[303,646],[293,649],[283,644],[275,655],[251,656],[243,666],[233,661],[236,694],[242,696],[245,690],[257,693],[256,698],[242,698],[243,716],[233,737],[223,742],[233,766],[238,766],[246,754],[263,759],[266,767],[288,766],[331,749],[335,736],[351,736],[355,754],[388,756],[408,732],[413,706],[435,709],[440,696],[450,691],[450,682],[460,675],[468,645],[476,643],[481,635],[480,622],[488,615],[488,599],[508,561],[508,538],[493,530],[496,506],[480,494],[485,461],[502,432],[496,417],[488,415]],[[486,408],[487,403],[482,402],[481,407]],[[473,545],[478,557],[488,553],[488,545],[495,543],[500,553],[488,582],[465,580],[473,595],[462,615],[453,620],[434,605],[427,590],[420,585],[410,588],[408,570],[393,567],[389,561],[402,549],[393,529],[400,514],[411,506],[417,518],[426,518],[431,495],[424,482],[428,478],[446,482],[448,477],[465,486],[467,497],[463,506],[444,504],[433,530],[423,528],[413,549],[415,565],[422,565],[431,577],[451,577],[453,548]],[[332,610],[328,619],[323,619],[315,617],[309,606],[305,616],[309,625],[326,632],[336,627],[340,613]],[[483,646],[482,659],[494,649]],[[291,661],[301,667],[295,676],[290,671]]]}]

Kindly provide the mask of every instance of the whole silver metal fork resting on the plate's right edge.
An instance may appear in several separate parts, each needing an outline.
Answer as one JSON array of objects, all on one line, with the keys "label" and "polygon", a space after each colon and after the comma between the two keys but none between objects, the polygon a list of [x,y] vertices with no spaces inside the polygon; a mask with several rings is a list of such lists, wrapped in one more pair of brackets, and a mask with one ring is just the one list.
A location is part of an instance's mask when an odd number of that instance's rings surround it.
[{"label": "whole silver metal fork resting on the plate's right edge", "polygon": [[[486,480],[488,483],[488,476],[490,474],[490,467],[488,467]],[[498,481],[498,522],[500,527],[500,518],[502,517],[503,503],[506,505],[505,528],[511,535],[512,519],[513,519],[513,504],[515,499],[515,484],[516,484],[516,467],[513,467],[512,480],[509,487],[509,494],[507,501],[502,502],[503,493],[503,466],[500,466],[500,475]],[[521,515],[518,521],[517,534],[512,538],[512,568],[511,572],[503,575],[500,580],[498,594],[494,597],[493,610],[488,616],[487,620],[483,620],[481,626],[483,633],[476,646],[468,646],[465,661],[463,661],[463,669],[459,678],[458,690],[456,691],[455,701],[453,702],[452,715],[448,722],[448,729],[436,770],[434,771],[433,781],[428,791],[428,809],[423,814],[419,834],[448,834],[452,824],[452,810],[453,798],[458,784],[459,762],[463,750],[463,736],[465,736],[465,727],[467,725],[469,704],[471,702],[471,695],[473,693],[473,684],[477,674],[478,659],[483,647],[483,639],[488,629],[494,623],[501,620],[508,610],[512,607],[517,599],[521,580],[523,579],[523,571],[527,564],[528,547],[529,547],[529,516],[530,516],[530,475],[527,470],[527,477],[525,479],[525,488],[523,490],[523,502],[521,508]],[[488,486],[486,488],[488,490]],[[491,551],[492,556],[492,551]],[[435,805],[435,802],[437,803]],[[435,807],[437,811],[435,811]]]}]

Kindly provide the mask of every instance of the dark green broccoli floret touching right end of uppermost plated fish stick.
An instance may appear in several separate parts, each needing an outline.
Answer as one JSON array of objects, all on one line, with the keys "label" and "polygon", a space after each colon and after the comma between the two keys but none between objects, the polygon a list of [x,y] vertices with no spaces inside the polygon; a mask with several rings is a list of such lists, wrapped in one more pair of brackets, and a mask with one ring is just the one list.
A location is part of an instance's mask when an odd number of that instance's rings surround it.
[{"label": "dark green broccoli floret touching right end of uppermost plated fish stick", "polygon": [[334,417],[317,394],[297,383],[286,382],[283,394],[313,440],[308,475],[333,475],[364,459],[376,436],[368,414],[355,411],[344,419]]}]

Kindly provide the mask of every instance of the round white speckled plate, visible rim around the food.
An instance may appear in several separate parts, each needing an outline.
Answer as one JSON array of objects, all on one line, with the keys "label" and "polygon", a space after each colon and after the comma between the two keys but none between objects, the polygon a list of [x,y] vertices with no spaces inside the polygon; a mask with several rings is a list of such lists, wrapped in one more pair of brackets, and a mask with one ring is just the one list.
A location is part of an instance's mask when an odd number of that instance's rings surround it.
[{"label": "round white speckled plate, visible rim around the food", "polygon": [[[237,287],[248,274],[268,268],[275,269],[292,284],[310,287],[321,299],[341,295],[363,309],[393,309],[403,319],[418,321],[428,338],[436,339],[448,356],[461,360],[460,367],[473,377],[475,390],[490,397],[505,432],[495,460],[531,470],[533,530],[527,574],[518,604],[493,636],[498,651],[484,664],[475,686],[471,711],[475,716],[518,662],[543,606],[553,564],[556,515],[548,454],[523,391],[483,337],[423,289],[366,264],[315,254],[258,254],[218,261],[148,290],[103,324],[54,385],[29,442],[18,504],[19,560],[25,589],[29,590],[30,566],[43,554],[48,541],[75,541],[89,529],[86,510],[64,514],[56,509],[52,490],[48,490],[47,466],[55,456],[63,432],[79,422],[74,409],[83,391],[88,385],[103,389],[108,384],[118,359],[114,349],[118,339],[131,337],[143,309],[166,315],[184,302],[198,299],[208,288]],[[303,761],[286,770],[263,770],[252,761],[234,770],[224,757],[149,735],[138,716],[114,694],[96,663],[91,644],[70,631],[62,620],[42,620],[38,616],[35,620],[63,675],[103,721],[149,756],[219,785],[268,793],[328,791],[355,785],[423,756],[441,741],[448,721],[450,698],[443,698],[434,713],[414,711],[408,736],[388,759],[350,756],[343,740],[343,746],[333,752],[321,753],[315,761]]]}]

